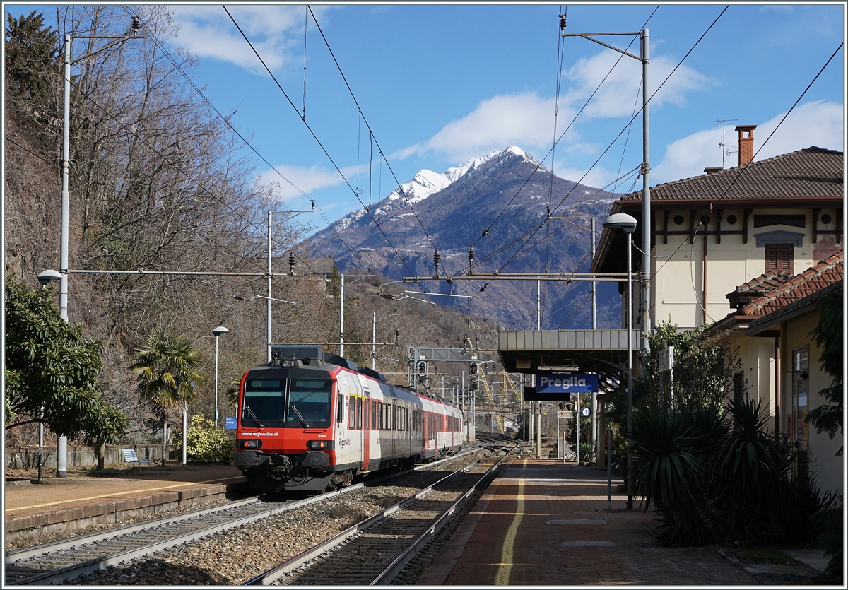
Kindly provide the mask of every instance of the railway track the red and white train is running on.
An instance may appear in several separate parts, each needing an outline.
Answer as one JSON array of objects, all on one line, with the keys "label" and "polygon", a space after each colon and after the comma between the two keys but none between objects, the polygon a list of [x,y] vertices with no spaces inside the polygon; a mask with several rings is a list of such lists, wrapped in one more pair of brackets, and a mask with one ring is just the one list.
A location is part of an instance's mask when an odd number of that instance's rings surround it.
[{"label": "railway track the red and white train is running on", "polygon": [[432,469],[453,459],[456,458],[420,465],[415,470],[284,504],[269,502],[269,495],[264,495],[10,551],[5,554],[5,580],[8,585],[47,585],[72,580],[288,510],[326,502],[366,485],[374,486],[403,476],[404,473]]}]

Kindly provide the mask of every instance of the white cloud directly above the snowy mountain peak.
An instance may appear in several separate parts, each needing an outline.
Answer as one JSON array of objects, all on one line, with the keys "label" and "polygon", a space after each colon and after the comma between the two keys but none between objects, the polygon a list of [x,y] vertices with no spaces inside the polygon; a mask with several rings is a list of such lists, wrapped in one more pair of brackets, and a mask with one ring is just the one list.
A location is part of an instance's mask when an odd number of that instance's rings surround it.
[{"label": "white cloud directly above the snowy mountain peak", "polygon": [[[561,108],[560,116],[562,111]],[[513,144],[525,149],[550,147],[553,125],[553,98],[539,97],[534,92],[497,96],[444,125],[426,142],[399,150],[392,157],[404,159],[415,153],[438,152],[465,162]]]}]

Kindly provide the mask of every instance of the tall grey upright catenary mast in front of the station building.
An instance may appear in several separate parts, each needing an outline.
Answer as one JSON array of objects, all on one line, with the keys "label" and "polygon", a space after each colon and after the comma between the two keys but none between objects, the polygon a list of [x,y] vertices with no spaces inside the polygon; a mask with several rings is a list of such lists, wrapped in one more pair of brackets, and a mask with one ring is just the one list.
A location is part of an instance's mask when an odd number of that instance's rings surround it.
[{"label": "tall grey upright catenary mast in front of the station building", "polygon": [[[648,30],[642,30],[642,358],[650,353],[650,231],[654,226],[650,213],[650,118],[648,111]],[[628,283],[629,285],[629,283]],[[629,329],[629,328],[628,328]],[[629,487],[628,487],[629,491]],[[630,508],[630,506],[628,506]]]}]

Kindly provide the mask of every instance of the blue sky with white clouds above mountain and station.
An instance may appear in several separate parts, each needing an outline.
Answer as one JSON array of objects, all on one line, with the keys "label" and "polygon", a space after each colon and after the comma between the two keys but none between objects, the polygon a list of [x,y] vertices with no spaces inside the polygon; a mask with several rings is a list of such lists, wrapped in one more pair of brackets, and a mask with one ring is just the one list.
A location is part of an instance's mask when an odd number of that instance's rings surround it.
[{"label": "blue sky with white clouds above mountain and station", "polygon": [[[639,31],[648,21],[653,92],[725,7],[658,6],[569,6],[566,32]],[[281,183],[281,208],[308,209],[309,198],[315,198],[326,218],[335,220],[360,209],[360,202],[384,198],[397,182],[409,181],[421,169],[443,172],[513,144],[543,159],[553,144],[555,125],[559,136],[571,124],[552,164],[568,180],[606,186],[618,170],[632,170],[641,162],[638,117],[626,146],[627,132],[594,164],[625,128],[634,104],[641,103],[639,61],[622,58],[574,120],[619,54],[579,37],[562,38],[560,4],[312,6],[379,147],[369,141],[368,126],[305,5],[226,7],[298,112],[220,4],[170,6],[181,27],[173,43],[197,54],[195,83],[205,86],[220,111],[235,111],[234,125],[308,195],[257,161],[263,179]],[[18,16],[32,6],[4,8]],[[47,5],[38,8],[55,14]],[[299,116],[304,106],[304,34],[306,121],[344,179]],[[763,143],[844,38],[842,3],[728,5],[651,102],[651,184],[722,165],[722,124],[715,122],[722,119],[727,120],[728,149],[734,151],[725,155],[725,167],[736,164],[735,125],[758,125],[755,150],[762,151],[756,159],[812,145],[843,150],[844,49]],[[622,48],[631,39],[602,38]],[[639,53],[638,41],[631,53]],[[380,163],[381,147],[388,165]],[[550,157],[544,164],[551,167]],[[631,178],[618,190],[632,185]],[[315,229],[325,225],[317,216],[313,219]]]}]

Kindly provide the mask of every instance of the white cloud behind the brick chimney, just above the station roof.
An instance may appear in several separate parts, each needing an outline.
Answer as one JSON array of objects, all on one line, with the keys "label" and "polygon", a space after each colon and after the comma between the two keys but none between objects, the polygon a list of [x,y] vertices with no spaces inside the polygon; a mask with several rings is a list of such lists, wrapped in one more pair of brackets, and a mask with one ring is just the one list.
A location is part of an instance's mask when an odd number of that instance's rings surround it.
[{"label": "white cloud behind the brick chimney, just above the station roof", "polygon": [[[756,160],[773,158],[782,153],[795,152],[811,146],[840,151],[844,149],[843,105],[825,101],[801,104],[783,123],[780,123],[784,115],[785,113],[778,114],[757,126],[754,131]],[[775,129],[777,131],[774,131]],[[773,131],[774,135],[769,139]],[[736,131],[730,128],[725,136],[728,149],[734,152],[725,157],[725,168],[732,168],[739,164],[736,135]],[[722,165],[721,152],[719,152],[721,141],[722,130],[716,127],[698,131],[670,143],[661,163],[651,170],[651,184],[701,175],[708,166]]]}]

